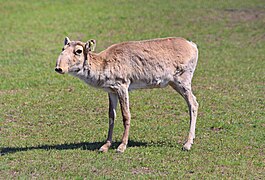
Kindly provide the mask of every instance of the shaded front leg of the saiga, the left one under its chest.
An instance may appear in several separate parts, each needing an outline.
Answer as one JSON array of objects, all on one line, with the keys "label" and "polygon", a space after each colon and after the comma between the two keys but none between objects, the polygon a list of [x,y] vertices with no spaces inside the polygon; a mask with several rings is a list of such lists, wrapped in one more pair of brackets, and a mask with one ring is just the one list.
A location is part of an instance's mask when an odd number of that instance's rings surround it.
[{"label": "shaded front leg of the saiga, the left one under its chest", "polygon": [[116,118],[117,102],[117,94],[109,93],[109,131],[106,143],[99,149],[101,152],[107,152],[112,143],[112,133],[114,128],[114,120]]}]

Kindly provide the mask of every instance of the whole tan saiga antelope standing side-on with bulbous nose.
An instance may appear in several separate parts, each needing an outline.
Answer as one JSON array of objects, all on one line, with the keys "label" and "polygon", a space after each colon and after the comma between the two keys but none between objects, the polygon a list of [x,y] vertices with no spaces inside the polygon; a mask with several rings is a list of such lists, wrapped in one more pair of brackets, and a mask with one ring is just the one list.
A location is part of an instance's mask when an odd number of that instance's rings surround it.
[{"label": "whole tan saiga antelope standing side-on with bulbous nose", "polygon": [[[92,43],[91,43],[92,42]],[[86,83],[109,93],[110,128],[105,145],[112,142],[116,104],[119,100],[123,115],[124,134],[119,152],[126,149],[130,127],[128,91],[140,88],[172,86],[187,101],[191,127],[184,148],[189,150],[195,138],[198,103],[191,91],[191,80],[198,60],[196,44],[183,38],[163,38],[114,44],[100,53],[91,52],[95,41],[83,43],[65,39],[56,71],[69,72]],[[81,54],[78,52],[82,51]],[[79,51],[78,51],[79,50]]]}]

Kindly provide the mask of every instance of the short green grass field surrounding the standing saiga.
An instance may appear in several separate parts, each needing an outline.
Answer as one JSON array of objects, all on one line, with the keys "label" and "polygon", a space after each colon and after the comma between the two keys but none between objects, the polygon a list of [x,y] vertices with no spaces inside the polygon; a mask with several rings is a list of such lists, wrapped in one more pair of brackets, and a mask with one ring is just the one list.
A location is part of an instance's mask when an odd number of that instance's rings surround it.
[{"label": "short green grass field surrounding the standing saiga", "polygon": [[[0,0],[0,179],[264,179],[263,0]],[[129,147],[98,153],[108,98],[54,72],[65,36],[128,40],[181,36],[199,46],[200,104],[192,150],[188,108],[170,87],[130,93]],[[119,112],[119,111],[118,111]]]}]

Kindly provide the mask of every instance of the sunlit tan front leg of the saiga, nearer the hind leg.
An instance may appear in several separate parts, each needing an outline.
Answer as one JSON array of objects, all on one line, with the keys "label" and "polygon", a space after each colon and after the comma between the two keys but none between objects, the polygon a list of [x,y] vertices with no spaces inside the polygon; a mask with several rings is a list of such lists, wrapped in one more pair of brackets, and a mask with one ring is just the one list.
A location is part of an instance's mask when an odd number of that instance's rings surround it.
[{"label": "sunlit tan front leg of the saiga, nearer the hind leg", "polygon": [[124,132],[122,136],[122,143],[119,145],[117,152],[123,153],[128,144],[130,121],[131,121],[131,114],[129,109],[129,92],[127,86],[123,86],[122,88],[119,89],[118,98],[121,106]]}]

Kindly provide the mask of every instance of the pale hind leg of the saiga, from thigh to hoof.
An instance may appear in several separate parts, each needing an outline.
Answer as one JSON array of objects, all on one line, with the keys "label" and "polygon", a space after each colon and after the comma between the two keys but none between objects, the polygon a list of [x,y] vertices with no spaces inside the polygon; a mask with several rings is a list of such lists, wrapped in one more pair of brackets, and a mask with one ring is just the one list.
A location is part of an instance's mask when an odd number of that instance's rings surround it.
[{"label": "pale hind leg of the saiga, from thigh to hoof", "polygon": [[184,72],[182,75],[175,78],[174,82],[171,82],[171,86],[175,89],[187,102],[190,114],[190,130],[187,141],[185,142],[183,149],[190,150],[195,138],[195,126],[197,119],[197,112],[199,104],[196,101],[196,97],[191,91],[191,79],[192,74]]}]

